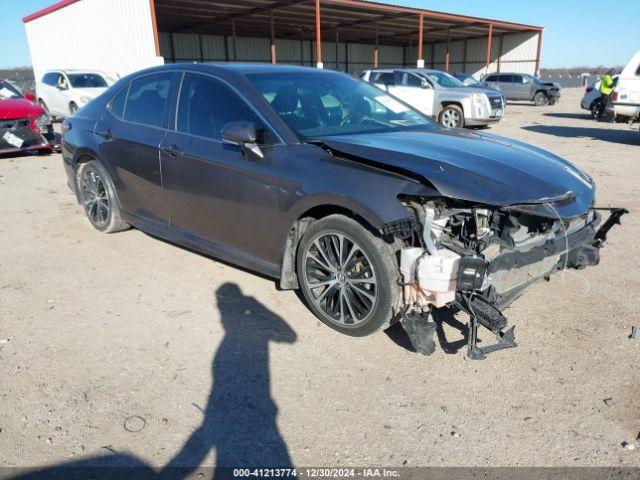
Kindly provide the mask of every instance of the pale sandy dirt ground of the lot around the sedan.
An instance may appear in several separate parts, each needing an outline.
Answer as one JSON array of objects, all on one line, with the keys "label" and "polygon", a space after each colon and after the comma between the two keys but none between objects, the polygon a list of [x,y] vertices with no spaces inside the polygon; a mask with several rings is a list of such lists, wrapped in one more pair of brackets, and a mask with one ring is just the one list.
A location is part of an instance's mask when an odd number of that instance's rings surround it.
[{"label": "pale sandy dirt ground of the lot around the sedan", "polygon": [[59,155],[0,159],[0,466],[640,466],[640,133],[581,94],[510,105],[490,132],[632,213],[598,267],[510,308],[520,346],[483,362],[455,322],[430,357],[398,328],[341,336],[273,281],[98,233]]}]

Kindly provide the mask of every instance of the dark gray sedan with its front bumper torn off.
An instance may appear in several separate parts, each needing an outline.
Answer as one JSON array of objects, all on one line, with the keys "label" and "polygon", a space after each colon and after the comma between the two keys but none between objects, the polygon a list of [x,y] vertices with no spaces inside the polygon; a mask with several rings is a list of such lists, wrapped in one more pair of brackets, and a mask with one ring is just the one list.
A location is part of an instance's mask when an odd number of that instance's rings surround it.
[{"label": "dark gray sedan with its front bumper torn off", "polygon": [[[63,128],[98,230],[135,226],[278,278],[348,335],[401,321],[425,354],[444,307],[469,314],[470,358],[515,346],[504,308],[596,265],[627,213],[596,208],[592,179],[549,152],[441,129],[337,72],[166,65]],[[494,345],[476,345],[479,326]]]}]

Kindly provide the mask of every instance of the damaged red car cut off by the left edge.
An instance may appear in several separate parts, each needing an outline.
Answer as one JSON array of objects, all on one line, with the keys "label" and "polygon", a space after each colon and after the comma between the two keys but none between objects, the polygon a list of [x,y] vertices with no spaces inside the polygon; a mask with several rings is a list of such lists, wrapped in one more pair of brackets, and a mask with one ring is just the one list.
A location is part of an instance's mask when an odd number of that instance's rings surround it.
[{"label": "damaged red car cut off by the left edge", "polygon": [[0,80],[0,155],[53,150],[57,135],[51,117],[33,100],[33,94]]}]

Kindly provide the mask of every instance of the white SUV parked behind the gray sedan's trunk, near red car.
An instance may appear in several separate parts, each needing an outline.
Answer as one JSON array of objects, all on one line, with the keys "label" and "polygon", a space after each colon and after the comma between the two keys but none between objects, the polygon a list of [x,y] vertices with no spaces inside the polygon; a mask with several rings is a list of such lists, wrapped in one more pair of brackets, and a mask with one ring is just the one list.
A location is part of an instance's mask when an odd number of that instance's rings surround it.
[{"label": "white SUV parked behind the gray sedan's trunk, near red car", "polygon": [[36,83],[38,103],[53,117],[73,115],[115,83],[96,70],[52,70]]}]

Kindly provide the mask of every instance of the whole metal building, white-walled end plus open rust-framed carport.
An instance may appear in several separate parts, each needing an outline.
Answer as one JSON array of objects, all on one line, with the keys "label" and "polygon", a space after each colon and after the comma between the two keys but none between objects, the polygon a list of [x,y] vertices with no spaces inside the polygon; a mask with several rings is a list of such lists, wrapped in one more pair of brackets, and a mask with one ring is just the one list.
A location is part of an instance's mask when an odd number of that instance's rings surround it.
[{"label": "whole metal building, white-walled end plus open rust-framed carport", "polygon": [[48,69],[126,75],[177,61],[536,73],[543,33],[365,0],[60,0],[24,23],[38,78]]}]

